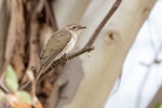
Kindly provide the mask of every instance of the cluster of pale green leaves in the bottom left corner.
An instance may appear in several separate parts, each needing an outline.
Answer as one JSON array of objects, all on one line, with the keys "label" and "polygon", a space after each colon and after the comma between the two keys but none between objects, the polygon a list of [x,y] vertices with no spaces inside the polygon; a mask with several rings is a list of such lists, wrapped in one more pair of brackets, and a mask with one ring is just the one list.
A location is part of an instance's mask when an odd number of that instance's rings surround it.
[{"label": "cluster of pale green leaves in the bottom left corner", "polygon": [[[6,70],[5,70],[4,84],[10,93],[4,94],[0,90],[0,102],[3,100],[3,98],[5,96],[12,94],[12,96],[16,97],[21,104],[27,104],[27,105],[32,104],[32,97],[28,92],[18,91],[17,76],[16,76],[14,69],[12,68],[12,66],[8,66]],[[12,100],[12,98],[11,98],[11,100]]]}]

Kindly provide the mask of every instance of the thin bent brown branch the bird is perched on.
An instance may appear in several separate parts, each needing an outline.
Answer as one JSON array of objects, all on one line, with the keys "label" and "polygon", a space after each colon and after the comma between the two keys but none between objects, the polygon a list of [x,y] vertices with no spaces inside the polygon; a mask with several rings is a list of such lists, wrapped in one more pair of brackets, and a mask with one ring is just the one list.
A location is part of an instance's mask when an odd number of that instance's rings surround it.
[{"label": "thin bent brown branch the bird is perched on", "polygon": [[[57,60],[55,60],[51,67],[49,67],[46,70],[43,71],[42,76],[45,76],[46,73],[49,73],[53,68],[56,68],[58,65],[64,64],[65,62],[77,57],[85,52],[90,52],[92,50],[94,50],[93,43],[95,41],[95,39],[97,38],[98,33],[100,32],[100,30],[103,29],[103,27],[105,26],[105,24],[110,19],[110,17],[112,16],[112,14],[116,12],[116,10],[119,8],[120,3],[122,2],[122,0],[116,0],[116,2],[113,3],[112,8],[110,9],[110,11],[106,14],[105,18],[102,21],[102,23],[98,25],[98,27],[96,28],[96,30],[94,31],[94,33],[92,35],[92,37],[90,38],[89,42],[86,43],[86,45],[81,49],[80,51],[72,53],[70,55],[67,55],[67,57],[62,57]],[[40,77],[40,78],[41,78]],[[30,84],[30,83],[29,83]],[[25,89],[29,87],[30,85],[27,85]]]}]

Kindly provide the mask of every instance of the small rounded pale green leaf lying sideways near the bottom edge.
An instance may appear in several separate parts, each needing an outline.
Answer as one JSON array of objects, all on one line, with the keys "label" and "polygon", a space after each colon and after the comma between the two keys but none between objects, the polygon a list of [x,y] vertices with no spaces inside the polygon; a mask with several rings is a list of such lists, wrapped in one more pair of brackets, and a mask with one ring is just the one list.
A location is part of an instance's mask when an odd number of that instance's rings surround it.
[{"label": "small rounded pale green leaf lying sideways near the bottom edge", "polygon": [[22,103],[31,105],[32,104],[32,99],[29,93],[25,92],[25,91],[18,91],[16,92],[16,96],[18,96],[18,98],[21,99]]}]

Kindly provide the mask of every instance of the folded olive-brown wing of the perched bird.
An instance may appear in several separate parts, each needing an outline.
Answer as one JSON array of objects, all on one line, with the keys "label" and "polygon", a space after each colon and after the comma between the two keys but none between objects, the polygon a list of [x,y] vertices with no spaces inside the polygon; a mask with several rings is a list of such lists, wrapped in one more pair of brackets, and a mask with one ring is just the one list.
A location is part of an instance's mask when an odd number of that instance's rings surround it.
[{"label": "folded olive-brown wing of the perched bird", "polygon": [[72,35],[67,30],[59,30],[55,32],[48,40],[46,44],[43,48],[43,51],[40,55],[40,59],[48,64],[64,50],[64,48],[69,43]]}]

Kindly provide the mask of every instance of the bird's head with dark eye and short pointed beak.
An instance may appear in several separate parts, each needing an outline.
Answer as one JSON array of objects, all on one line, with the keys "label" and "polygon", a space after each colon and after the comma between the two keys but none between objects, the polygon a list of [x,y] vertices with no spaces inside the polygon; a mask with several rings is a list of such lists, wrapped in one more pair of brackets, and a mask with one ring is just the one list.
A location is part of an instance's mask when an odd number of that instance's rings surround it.
[{"label": "bird's head with dark eye and short pointed beak", "polygon": [[85,29],[86,27],[83,27],[83,26],[80,26],[80,25],[77,25],[77,24],[71,24],[71,25],[68,25],[66,26],[66,30],[70,31],[71,33],[73,35],[77,35],[79,36],[80,32]]}]

